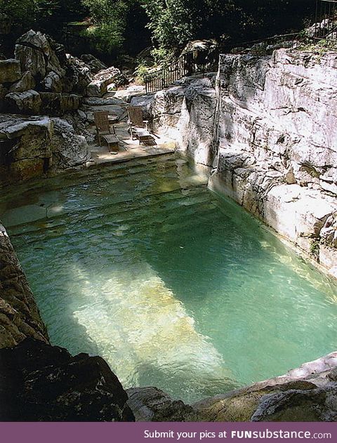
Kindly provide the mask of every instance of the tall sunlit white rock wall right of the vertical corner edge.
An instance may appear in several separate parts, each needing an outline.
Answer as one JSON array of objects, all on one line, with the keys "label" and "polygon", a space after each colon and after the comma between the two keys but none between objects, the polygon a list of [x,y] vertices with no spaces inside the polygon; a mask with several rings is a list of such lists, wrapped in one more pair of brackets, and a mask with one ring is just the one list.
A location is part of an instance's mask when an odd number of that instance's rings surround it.
[{"label": "tall sunlit white rock wall right of the vertical corner edge", "polygon": [[219,157],[211,178],[213,189],[335,276],[337,249],[321,230],[337,213],[336,78],[336,53],[221,56]]}]

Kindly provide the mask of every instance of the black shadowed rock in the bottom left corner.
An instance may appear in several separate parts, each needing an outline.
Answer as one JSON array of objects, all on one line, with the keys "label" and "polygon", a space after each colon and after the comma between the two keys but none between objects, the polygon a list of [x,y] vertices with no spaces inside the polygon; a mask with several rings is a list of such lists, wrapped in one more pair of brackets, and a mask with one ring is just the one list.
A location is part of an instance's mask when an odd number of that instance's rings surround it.
[{"label": "black shadowed rock in the bottom left corner", "polygon": [[0,350],[1,421],[134,421],[128,396],[100,357],[28,338]]}]

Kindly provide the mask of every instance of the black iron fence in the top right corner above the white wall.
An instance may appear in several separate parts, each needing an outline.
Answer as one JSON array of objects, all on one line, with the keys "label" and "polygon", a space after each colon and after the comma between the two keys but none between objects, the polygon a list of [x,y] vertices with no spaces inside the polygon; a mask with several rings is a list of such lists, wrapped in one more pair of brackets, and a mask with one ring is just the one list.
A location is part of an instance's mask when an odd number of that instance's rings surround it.
[{"label": "black iron fence in the top right corner above the white wall", "polygon": [[337,0],[317,0],[315,39],[337,41]]}]

